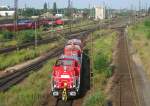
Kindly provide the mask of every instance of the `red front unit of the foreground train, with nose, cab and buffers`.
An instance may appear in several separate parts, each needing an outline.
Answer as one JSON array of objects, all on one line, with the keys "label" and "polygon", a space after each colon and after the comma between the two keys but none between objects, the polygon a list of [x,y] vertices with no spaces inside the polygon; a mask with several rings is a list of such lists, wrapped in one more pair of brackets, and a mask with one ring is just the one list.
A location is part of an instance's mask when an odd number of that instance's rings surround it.
[{"label": "red front unit of the foreground train, with nose, cab and buffers", "polygon": [[77,95],[80,85],[80,67],[80,62],[73,58],[63,58],[56,61],[53,66],[51,83],[53,96],[62,96],[64,89],[67,89],[67,97]]}]

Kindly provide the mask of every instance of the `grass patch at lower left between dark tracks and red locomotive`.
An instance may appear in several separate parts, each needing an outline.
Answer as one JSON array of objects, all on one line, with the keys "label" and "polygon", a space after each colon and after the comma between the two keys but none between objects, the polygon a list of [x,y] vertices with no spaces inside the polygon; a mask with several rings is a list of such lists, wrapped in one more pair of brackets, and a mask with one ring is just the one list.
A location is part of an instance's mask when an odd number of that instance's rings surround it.
[{"label": "grass patch at lower left between dark tracks and red locomotive", "polygon": [[48,73],[54,62],[54,59],[48,61],[40,71],[33,72],[23,83],[0,93],[0,106],[39,106],[49,86]]}]

